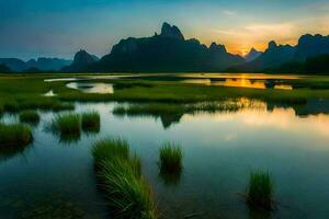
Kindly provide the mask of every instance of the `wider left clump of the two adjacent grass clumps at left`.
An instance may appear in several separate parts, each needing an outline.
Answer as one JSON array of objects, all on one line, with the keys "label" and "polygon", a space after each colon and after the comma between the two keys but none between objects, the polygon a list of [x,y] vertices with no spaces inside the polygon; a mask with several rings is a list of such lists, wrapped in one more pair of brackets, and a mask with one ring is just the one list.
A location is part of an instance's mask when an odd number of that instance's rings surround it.
[{"label": "wider left clump of the two adjacent grass clumps at left", "polygon": [[64,142],[77,141],[81,136],[81,117],[76,113],[57,115],[50,122],[49,129],[59,135]]}]

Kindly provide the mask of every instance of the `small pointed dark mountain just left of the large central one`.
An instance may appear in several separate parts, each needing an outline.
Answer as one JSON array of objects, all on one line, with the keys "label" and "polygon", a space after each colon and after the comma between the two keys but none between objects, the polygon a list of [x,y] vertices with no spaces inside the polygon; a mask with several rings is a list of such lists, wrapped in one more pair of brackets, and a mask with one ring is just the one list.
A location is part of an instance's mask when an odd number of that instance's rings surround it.
[{"label": "small pointed dark mountain just left of the large central one", "polygon": [[81,49],[75,55],[75,59],[70,66],[64,67],[64,71],[83,71],[89,65],[92,65],[100,59]]}]

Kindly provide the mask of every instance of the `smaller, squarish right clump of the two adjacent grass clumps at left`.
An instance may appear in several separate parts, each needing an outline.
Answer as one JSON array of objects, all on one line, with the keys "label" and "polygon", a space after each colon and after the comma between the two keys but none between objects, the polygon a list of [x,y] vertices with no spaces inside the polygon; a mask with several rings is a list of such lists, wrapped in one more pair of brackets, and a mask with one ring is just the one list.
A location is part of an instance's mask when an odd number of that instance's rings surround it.
[{"label": "smaller, squarish right clump of the two adjacent grass clumps at left", "polygon": [[83,113],[81,118],[82,130],[87,132],[99,132],[101,117],[98,112]]}]

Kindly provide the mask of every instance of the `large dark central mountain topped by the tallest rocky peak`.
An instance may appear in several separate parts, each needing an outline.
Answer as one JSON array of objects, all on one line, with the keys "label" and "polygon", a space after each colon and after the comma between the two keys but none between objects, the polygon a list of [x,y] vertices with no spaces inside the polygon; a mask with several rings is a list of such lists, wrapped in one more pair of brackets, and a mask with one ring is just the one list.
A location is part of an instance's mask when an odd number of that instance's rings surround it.
[{"label": "large dark central mountain topped by the tallest rocky peak", "polygon": [[197,39],[185,39],[177,26],[163,23],[160,34],[151,37],[122,39],[90,71],[219,71],[243,64],[238,55],[227,53],[224,45],[209,47]]}]

